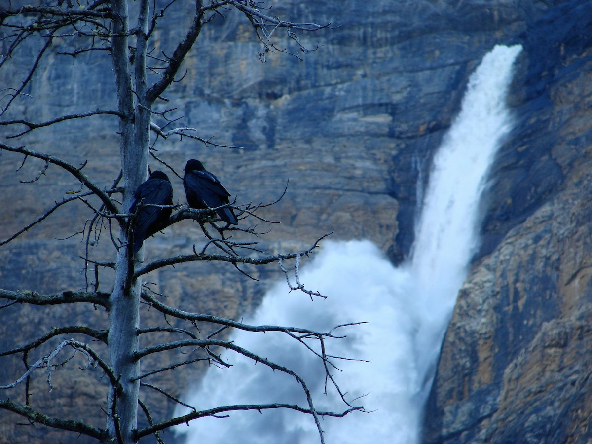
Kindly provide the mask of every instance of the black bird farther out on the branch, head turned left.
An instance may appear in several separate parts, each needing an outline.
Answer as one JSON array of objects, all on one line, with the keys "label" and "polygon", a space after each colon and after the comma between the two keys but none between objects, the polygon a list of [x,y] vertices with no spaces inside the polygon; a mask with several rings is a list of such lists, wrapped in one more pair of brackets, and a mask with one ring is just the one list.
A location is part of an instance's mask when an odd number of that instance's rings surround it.
[{"label": "black bird farther out on the branch, head turned left", "polygon": [[[183,186],[189,207],[198,210],[207,210],[208,208],[217,208],[229,204],[230,193],[218,178],[209,171],[206,171],[199,160],[188,160],[185,165],[185,176],[183,177]],[[232,208],[218,208],[218,216],[227,224],[237,225]]]}]

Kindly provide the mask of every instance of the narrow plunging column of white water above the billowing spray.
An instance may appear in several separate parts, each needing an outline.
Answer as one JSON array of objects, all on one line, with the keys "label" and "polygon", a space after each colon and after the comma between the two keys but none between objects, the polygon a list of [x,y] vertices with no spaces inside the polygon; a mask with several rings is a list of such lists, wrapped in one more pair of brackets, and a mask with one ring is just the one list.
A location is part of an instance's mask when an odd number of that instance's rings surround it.
[{"label": "narrow plunging column of white water above the billowing spray", "polygon": [[459,115],[436,152],[411,256],[419,374],[429,389],[466,267],[478,246],[488,168],[511,129],[511,66],[522,46],[496,46],[471,75]]}]

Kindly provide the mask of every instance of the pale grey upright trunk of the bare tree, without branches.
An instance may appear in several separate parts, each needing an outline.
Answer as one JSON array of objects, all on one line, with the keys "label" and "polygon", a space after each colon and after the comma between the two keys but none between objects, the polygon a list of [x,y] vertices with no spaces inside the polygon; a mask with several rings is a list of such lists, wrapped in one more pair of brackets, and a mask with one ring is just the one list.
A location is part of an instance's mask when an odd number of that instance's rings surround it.
[{"label": "pale grey upright trunk of the bare tree, without branches", "polygon": [[[146,179],[149,137],[150,107],[144,103],[146,91],[146,32],[149,2],[143,0],[139,9],[136,28],[136,52],[134,69],[130,65],[129,18],[127,0],[111,2],[114,11],[114,34],[112,38],[112,61],[117,81],[118,107],[124,115],[120,120],[121,165],[124,188],[123,211],[127,212],[134,191]],[[134,91],[135,86],[135,91]],[[134,94],[135,92],[135,94]],[[138,99],[136,99],[138,98]],[[137,102],[139,102],[137,104]],[[136,359],[138,350],[139,304],[141,279],[133,281],[134,261],[128,232],[122,229],[123,246],[117,254],[115,285],[110,298],[110,329],[108,346],[114,374],[120,378],[120,387],[112,387],[109,393],[110,411],[107,419],[108,434],[121,444],[131,444],[137,426],[137,408],[140,382],[140,365]],[[136,259],[143,259],[143,249]]]}]

